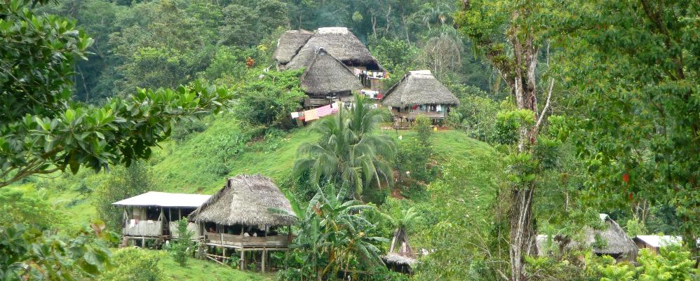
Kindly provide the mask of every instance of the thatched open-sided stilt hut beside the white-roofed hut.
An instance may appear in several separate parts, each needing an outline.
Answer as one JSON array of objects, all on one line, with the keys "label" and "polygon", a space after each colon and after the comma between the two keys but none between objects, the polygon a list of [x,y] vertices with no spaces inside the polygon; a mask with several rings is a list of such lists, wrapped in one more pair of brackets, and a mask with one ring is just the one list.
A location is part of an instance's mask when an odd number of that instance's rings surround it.
[{"label": "thatched open-sided stilt hut beside the white-roofed hut", "polygon": [[[292,206],[274,182],[257,175],[239,175],[227,179],[226,185],[189,215],[190,221],[200,224],[207,245],[204,253],[209,259],[222,262],[230,259],[233,249],[240,254],[241,268],[245,268],[245,252],[262,253],[262,270],[269,251],[287,250],[292,240],[290,229],[296,218],[271,212],[272,208],[292,213]],[[215,248],[220,248],[218,254]],[[213,249],[213,253],[209,250]]]}]

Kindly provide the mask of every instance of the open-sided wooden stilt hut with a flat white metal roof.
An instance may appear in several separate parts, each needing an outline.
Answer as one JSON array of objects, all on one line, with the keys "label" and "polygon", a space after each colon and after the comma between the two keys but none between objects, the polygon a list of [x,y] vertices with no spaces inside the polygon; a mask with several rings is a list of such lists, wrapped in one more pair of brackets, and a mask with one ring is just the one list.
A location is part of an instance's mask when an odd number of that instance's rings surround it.
[{"label": "open-sided wooden stilt hut with a flat white metal roof", "polygon": [[[211,196],[149,191],[112,203],[124,207],[122,235],[125,240],[168,240],[177,238],[177,220],[187,217]],[[197,236],[196,224],[187,228]]]}]

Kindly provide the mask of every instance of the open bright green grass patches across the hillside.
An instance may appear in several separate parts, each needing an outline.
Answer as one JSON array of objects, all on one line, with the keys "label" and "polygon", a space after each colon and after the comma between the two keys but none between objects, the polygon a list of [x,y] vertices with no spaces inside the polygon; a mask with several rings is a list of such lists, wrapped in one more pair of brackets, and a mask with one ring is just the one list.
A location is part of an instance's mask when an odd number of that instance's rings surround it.
[{"label": "open bright green grass patches across the hillside", "polygon": [[[381,133],[407,139],[415,133],[409,130],[382,130]],[[149,160],[157,191],[213,194],[224,179],[236,174],[260,173],[279,182],[290,174],[298,147],[313,142],[318,135],[310,128],[299,128],[276,137],[252,139],[246,137],[241,125],[220,116],[210,121],[202,132],[194,132],[179,142],[170,141],[154,151]],[[401,142],[401,140],[398,140]],[[394,208],[417,206],[424,212],[426,227],[440,221],[450,221],[465,213],[478,216],[490,203],[496,188],[494,181],[502,171],[499,154],[490,145],[467,137],[459,130],[440,130],[433,134],[438,179],[427,185],[429,196],[401,201]],[[53,186],[51,201],[72,214],[74,222],[82,224],[95,218],[96,211],[89,196],[81,198],[72,191],[76,183],[97,185],[109,174],[94,174],[82,170],[77,175],[42,179],[37,186]],[[78,199],[76,199],[78,198]],[[393,201],[396,204],[396,200]],[[455,205],[458,206],[455,208]],[[389,207],[389,206],[387,206]],[[418,247],[428,247],[430,233],[412,238]],[[175,266],[169,258],[161,261],[166,273],[177,280],[271,280],[271,275],[243,273],[208,261],[192,261],[190,268]],[[170,264],[173,263],[173,264]]]}]

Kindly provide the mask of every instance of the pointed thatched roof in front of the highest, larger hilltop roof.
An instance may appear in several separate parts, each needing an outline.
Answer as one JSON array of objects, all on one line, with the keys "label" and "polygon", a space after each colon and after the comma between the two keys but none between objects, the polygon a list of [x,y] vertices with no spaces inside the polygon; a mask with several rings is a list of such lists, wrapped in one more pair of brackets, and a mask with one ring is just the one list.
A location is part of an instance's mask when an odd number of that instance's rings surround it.
[{"label": "pointed thatched roof in front of the highest, larger hilltop roof", "polygon": [[306,68],[304,74],[299,77],[304,92],[311,95],[325,95],[363,88],[357,76],[325,49],[316,48],[302,50],[302,52],[312,53],[309,55],[309,61],[304,65]]}]

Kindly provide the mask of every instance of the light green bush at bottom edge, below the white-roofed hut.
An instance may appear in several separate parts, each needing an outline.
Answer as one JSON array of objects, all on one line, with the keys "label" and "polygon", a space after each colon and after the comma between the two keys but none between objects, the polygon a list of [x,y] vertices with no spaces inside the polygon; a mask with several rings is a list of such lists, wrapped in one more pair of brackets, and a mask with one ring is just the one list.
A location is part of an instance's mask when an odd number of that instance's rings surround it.
[{"label": "light green bush at bottom edge, below the white-roofed hut", "polygon": [[161,253],[145,249],[119,249],[112,255],[114,268],[102,274],[102,281],[160,281],[166,280],[158,267]]}]

